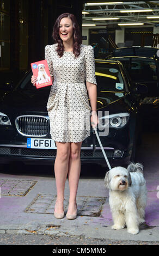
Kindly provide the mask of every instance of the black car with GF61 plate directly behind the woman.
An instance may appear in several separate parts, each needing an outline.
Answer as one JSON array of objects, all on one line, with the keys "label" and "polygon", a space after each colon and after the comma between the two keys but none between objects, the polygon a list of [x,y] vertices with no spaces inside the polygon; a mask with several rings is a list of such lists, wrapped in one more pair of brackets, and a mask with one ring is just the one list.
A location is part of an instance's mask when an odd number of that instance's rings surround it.
[{"label": "black car with GF61 plate directly behind the woman", "polygon": [[[97,80],[97,126],[101,142],[112,166],[133,160],[140,136],[140,91],[129,81],[119,61],[95,60]],[[56,143],[50,137],[46,103],[50,87],[36,89],[26,72],[19,84],[1,97],[0,162],[52,164]],[[142,88],[142,89],[141,89]],[[105,164],[100,145],[91,128],[81,148],[82,162]]]}]

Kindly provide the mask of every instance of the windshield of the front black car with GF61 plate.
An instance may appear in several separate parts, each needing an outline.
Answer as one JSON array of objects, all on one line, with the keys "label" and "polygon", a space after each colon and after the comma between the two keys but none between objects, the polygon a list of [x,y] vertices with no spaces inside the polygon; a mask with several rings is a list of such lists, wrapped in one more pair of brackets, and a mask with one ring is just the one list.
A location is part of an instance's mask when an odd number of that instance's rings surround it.
[{"label": "windshield of the front black car with GF61 plate", "polygon": [[97,90],[100,92],[120,93],[125,91],[118,64],[96,61],[95,75]]}]

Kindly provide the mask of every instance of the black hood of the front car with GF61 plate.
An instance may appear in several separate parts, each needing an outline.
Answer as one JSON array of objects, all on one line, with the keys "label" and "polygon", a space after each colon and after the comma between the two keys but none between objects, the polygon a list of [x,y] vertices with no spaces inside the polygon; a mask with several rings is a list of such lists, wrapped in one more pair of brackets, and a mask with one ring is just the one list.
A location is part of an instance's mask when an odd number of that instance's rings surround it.
[{"label": "black hood of the front car with GF61 plate", "polygon": [[[44,112],[50,91],[37,90],[32,92],[14,91],[3,95],[1,104],[7,109],[20,110],[21,112]],[[102,109],[119,101],[125,96],[125,92],[99,92],[97,94],[97,109]],[[18,111],[19,112],[19,111]]]}]

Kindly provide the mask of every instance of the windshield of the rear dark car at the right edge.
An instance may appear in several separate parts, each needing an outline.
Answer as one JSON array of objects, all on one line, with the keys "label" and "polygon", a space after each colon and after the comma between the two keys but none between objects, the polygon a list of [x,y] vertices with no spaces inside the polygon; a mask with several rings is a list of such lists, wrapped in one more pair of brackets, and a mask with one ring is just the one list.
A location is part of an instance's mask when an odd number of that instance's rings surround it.
[{"label": "windshield of the rear dark car at the right edge", "polygon": [[129,72],[132,81],[157,82],[157,66],[156,62],[153,60],[140,60],[136,58],[130,58],[130,60],[121,59],[121,62]]}]

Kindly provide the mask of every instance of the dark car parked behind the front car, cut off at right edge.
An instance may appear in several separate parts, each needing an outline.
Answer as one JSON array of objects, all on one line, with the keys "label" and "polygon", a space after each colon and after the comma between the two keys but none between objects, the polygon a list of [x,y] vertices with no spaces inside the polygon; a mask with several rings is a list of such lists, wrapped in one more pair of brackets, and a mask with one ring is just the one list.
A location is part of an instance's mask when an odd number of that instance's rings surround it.
[{"label": "dark car parked behind the front car, cut off at right edge", "polygon": [[148,92],[141,97],[143,124],[159,123],[159,63],[157,48],[125,47],[117,48],[108,59],[120,60],[129,73],[132,82],[142,83]]}]

